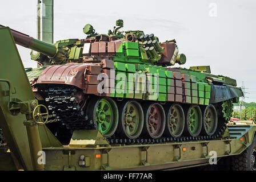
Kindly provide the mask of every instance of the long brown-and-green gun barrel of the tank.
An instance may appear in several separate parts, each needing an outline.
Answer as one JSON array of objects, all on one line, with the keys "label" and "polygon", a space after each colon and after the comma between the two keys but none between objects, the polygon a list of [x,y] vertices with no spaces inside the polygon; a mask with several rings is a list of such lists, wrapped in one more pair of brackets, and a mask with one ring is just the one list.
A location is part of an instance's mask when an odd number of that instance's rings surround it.
[{"label": "long brown-and-green gun barrel of the tank", "polygon": [[[0,24],[0,28],[5,27]],[[14,41],[19,46],[33,49],[34,51],[41,52],[46,56],[54,57],[57,53],[57,48],[54,44],[46,43],[38,39],[34,39],[29,35],[22,34],[21,32],[11,30]]]}]

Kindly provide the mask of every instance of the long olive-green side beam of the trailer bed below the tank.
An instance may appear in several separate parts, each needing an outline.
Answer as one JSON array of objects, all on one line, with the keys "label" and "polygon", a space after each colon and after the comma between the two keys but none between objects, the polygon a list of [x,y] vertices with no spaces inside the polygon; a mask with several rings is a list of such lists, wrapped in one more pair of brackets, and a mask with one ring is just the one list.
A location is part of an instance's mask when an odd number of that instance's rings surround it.
[{"label": "long olive-green side beam of the trailer bed below the tank", "polygon": [[[203,166],[245,151],[255,138],[256,126],[230,125],[227,130],[241,128],[246,133],[233,139],[43,148],[47,156],[45,169],[162,170]],[[79,160],[82,155],[85,159]],[[79,165],[82,161],[84,165]]]}]

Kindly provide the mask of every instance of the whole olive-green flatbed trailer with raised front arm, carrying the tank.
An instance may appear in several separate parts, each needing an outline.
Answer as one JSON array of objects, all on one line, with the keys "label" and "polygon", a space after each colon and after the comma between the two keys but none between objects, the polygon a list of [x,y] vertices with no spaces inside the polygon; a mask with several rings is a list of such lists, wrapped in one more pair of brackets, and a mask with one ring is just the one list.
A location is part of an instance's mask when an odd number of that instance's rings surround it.
[{"label": "whole olive-green flatbed trailer with raised front arm, carrying the tank", "polygon": [[63,146],[43,121],[35,119],[43,106],[33,96],[9,27],[0,28],[0,37],[0,128],[7,143],[0,148],[1,170],[181,169],[228,156],[233,156],[233,169],[255,170],[253,123],[229,123],[213,139],[162,138],[159,143],[139,144],[110,144],[98,130],[76,130],[69,145]]}]

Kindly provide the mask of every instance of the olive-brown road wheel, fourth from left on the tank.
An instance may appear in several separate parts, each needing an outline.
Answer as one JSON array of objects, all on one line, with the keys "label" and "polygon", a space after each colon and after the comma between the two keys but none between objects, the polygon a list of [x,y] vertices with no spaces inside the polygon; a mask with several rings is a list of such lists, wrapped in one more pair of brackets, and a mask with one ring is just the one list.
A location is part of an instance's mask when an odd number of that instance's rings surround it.
[{"label": "olive-brown road wheel, fourth from left on the tank", "polygon": [[182,106],[179,104],[166,105],[165,112],[165,136],[181,137],[185,126],[185,114]]}]

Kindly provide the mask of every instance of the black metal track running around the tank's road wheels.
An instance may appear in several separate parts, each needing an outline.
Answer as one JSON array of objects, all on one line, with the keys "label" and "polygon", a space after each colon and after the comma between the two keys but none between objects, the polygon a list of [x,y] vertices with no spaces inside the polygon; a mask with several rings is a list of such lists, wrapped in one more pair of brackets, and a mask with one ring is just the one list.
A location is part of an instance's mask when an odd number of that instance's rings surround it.
[{"label": "black metal track running around the tank's road wheels", "polygon": [[[75,98],[75,92],[77,89],[73,86],[55,87],[45,89],[45,101],[48,105],[50,114],[62,122],[67,129],[82,130],[82,129],[97,129],[93,121],[89,121],[85,115],[85,111],[81,109]],[[118,135],[114,134],[112,137],[107,138],[110,144],[155,144],[155,143],[166,143],[166,142],[189,142],[197,140],[214,140],[219,139],[222,133],[226,129],[226,123],[223,123],[221,127],[212,136],[198,136],[198,137],[162,137],[158,139],[152,138],[119,138]]]}]

